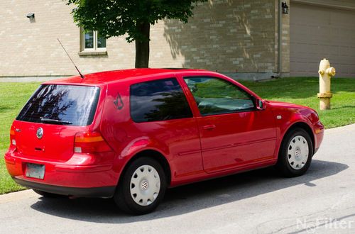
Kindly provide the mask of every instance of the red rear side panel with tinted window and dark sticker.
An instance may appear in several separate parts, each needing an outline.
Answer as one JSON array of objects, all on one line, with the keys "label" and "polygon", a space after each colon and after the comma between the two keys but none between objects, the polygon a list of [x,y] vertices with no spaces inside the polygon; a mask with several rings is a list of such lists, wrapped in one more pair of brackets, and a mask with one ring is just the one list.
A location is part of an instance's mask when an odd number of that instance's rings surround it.
[{"label": "red rear side panel with tinted window and dark sticker", "polygon": [[124,160],[142,149],[162,152],[173,183],[204,173],[197,121],[181,82],[170,75],[155,75],[111,84],[101,128]]}]

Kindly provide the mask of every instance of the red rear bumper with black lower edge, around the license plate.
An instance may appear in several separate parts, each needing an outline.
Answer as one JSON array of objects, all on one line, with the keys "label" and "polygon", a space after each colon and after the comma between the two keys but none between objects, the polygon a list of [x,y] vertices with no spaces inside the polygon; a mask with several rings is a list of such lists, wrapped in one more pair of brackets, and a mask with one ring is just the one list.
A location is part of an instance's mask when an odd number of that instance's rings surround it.
[{"label": "red rear bumper with black lower edge, around the license plate", "polygon": [[[5,154],[6,168],[18,184],[53,194],[89,197],[111,197],[119,174],[109,162],[96,163],[97,155],[74,155],[67,162],[53,162],[25,157],[10,150]],[[87,160],[88,157],[95,159]],[[28,163],[45,165],[43,179],[26,177]]]}]

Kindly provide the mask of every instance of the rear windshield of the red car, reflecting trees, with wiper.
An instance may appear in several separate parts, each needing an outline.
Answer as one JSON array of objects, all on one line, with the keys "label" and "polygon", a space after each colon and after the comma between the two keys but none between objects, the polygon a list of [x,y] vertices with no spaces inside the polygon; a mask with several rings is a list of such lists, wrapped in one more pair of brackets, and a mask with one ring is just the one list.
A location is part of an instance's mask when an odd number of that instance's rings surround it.
[{"label": "rear windshield of the red car, reflecting trees, with wiper", "polygon": [[99,87],[44,84],[31,96],[16,120],[70,126],[92,123]]}]

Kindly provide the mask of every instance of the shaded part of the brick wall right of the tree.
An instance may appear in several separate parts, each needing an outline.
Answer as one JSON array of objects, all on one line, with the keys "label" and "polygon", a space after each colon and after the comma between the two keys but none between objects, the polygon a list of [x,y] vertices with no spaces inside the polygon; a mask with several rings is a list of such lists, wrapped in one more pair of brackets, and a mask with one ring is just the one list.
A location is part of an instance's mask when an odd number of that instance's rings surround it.
[{"label": "shaded part of the brick wall right of the tree", "polygon": [[273,72],[275,1],[209,1],[183,24],[165,20],[164,36],[183,67]]}]

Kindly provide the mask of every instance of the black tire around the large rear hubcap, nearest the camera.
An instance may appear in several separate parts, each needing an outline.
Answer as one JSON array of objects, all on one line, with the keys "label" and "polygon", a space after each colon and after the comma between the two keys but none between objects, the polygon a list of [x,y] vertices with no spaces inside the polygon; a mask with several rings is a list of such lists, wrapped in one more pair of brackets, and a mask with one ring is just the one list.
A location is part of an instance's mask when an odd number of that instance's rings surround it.
[{"label": "black tire around the large rear hubcap, nearest the camera", "polygon": [[[133,196],[134,196],[133,192],[131,195],[131,186],[133,186],[132,184],[134,184],[134,183],[131,184],[131,179],[133,179],[133,174],[136,173],[139,168],[145,167],[147,165],[148,167],[153,167],[153,169],[155,169],[155,171],[158,172],[159,175],[158,179],[160,179],[160,188],[156,188],[156,186],[155,188],[153,188],[153,189],[158,189],[157,191],[158,195],[156,196],[155,200],[153,200],[151,204],[141,205],[133,200]],[[150,157],[140,157],[137,160],[133,161],[131,165],[129,165],[129,167],[126,168],[122,176],[123,177],[120,179],[116,192],[114,194],[114,201],[116,205],[121,209],[121,211],[135,214],[135,215],[151,213],[152,211],[155,210],[158,204],[160,204],[160,202],[163,200],[165,190],[167,187],[166,177],[165,177],[163,167],[156,160]],[[144,178],[145,177],[142,176],[143,181],[145,180]],[[153,184],[153,182],[151,184]],[[152,189],[151,184],[149,184],[148,189]],[[141,183],[139,183],[137,188],[141,189]],[[148,189],[146,191],[148,191]],[[143,190],[141,189],[140,191]],[[144,196],[144,195],[142,195],[141,193],[139,194],[139,196]]]}]

